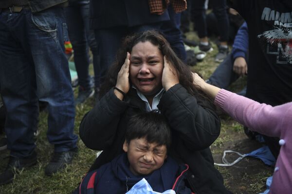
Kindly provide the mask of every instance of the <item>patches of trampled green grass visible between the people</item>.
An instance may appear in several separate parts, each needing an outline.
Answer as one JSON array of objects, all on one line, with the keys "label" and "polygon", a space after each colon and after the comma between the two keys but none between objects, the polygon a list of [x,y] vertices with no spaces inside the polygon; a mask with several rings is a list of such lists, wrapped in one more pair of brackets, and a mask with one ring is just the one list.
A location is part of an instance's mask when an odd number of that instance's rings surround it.
[{"label": "patches of trampled green grass visible between the people", "polygon": [[[195,33],[190,32],[186,35],[190,39],[198,40]],[[205,79],[208,78],[219,65],[214,62],[217,48],[214,42],[212,42],[212,44],[214,51],[208,53],[202,62],[192,67],[192,70],[199,70]],[[239,79],[231,86],[230,89],[232,91],[239,91],[244,84],[245,78]],[[79,124],[83,115],[91,110],[93,106],[93,99],[88,99],[84,104],[76,106],[74,132],[77,135]],[[96,151],[87,148],[79,139],[79,152],[73,160],[73,163],[68,165],[68,167],[62,172],[56,173],[52,177],[45,176],[44,168],[49,162],[50,156],[53,152],[53,146],[48,143],[46,138],[46,130],[48,127],[47,117],[48,114],[46,112],[42,112],[39,115],[38,129],[40,134],[38,135],[36,142],[36,151],[38,154],[37,165],[21,171],[16,170],[17,173],[14,182],[12,184],[0,186],[0,194],[70,194],[76,188],[82,176],[90,168],[96,157]],[[235,140],[240,142],[244,139],[240,139],[240,137],[244,137],[241,125],[232,120],[230,117],[223,116],[221,118],[221,124],[221,134],[211,146],[215,159],[217,155],[220,157],[228,146],[233,146]],[[8,162],[8,156],[9,152],[7,150],[0,152],[0,171],[4,170],[6,163]],[[245,160],[244,162],[248,163],[249,160]],[[256,174],[249,173],[248,167],[244,170],[245,173],[239,172],[239,167],[235,170],[231,167],[217,168],[224,177],[225,186],[234,193],[238,194],[263,192],[265,190],[265,180],[273,172],[269,167],[263,168],[262,172],[256,172]],[[239,175],[237,176],[237,174]],[[243,181],[241,180],[242,178]],[[247,184],[245,184],[245,181],[247,181]]]}]

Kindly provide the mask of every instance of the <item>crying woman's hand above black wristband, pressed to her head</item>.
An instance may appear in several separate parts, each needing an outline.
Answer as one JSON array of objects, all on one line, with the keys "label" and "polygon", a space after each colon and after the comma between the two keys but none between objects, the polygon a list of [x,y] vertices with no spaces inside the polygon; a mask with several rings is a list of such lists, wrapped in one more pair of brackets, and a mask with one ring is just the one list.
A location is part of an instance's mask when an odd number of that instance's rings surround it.
[{"label": "crying woman's hand above black wristband, pressed to her head", "polygon": [[[130,69],[130,53],[127,52],[127,57],[125,59],[125,63],[121,67],[121,69],[120,69],[120,71],[118,73],[117,83],[115,85],[117,88],[122,90],[125,94],[127,94],[129,89],[130,89],[129,69]],[[117,90],[114,90],[114,94],[120,100],[123,100],[124,96],[123,96],[122,93],[120,93]]]}]

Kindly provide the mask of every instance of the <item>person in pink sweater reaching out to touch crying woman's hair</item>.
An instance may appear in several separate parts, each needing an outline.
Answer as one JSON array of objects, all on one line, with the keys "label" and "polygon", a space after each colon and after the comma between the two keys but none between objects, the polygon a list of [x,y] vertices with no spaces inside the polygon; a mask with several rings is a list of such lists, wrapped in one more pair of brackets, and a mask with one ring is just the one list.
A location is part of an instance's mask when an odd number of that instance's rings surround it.
[{"label": "person in pink sweater reaching out to touch crying woman's hair", "polygon": [[292,102],[272,107],[260,104],[247,97],[205,83],[194,74],[194,83],[214,103],[239,123],[268,136],[281,138],[280,154],[277,158],[269,194],[291,194],[292,191]]}]

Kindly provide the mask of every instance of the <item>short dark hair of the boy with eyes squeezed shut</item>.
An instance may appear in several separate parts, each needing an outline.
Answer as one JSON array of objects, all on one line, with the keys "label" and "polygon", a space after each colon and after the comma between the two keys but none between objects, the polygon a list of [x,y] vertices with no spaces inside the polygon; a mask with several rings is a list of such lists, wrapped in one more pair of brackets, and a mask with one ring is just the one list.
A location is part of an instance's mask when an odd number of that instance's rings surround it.
[{"label": "short dark hair of the boy with eyes squeezed shut", "polygon": [[171,131],[164,116],[157,111],[137,114],[130,118],[126,132],[126,141],[145,137],[149,143],[171,144]]}]

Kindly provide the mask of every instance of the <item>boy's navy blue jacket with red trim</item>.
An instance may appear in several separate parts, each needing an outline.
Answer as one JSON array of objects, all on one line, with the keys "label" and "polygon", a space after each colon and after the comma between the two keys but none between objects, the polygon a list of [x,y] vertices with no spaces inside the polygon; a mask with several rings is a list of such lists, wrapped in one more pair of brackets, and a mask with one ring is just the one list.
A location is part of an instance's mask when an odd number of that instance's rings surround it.
[{"label": "boy's navy blue jacket with red trim", "polygon": [[121,154],[112,162],[91,171],[82,179],[79,194],[122,194],[128,192],[137,182],[145,178],[153,191],[163,193],[173,189],[177,194],[191,194],[184,185],[187,165],[178,165],[168,157],[163,166],[146,176],[135,176],[129,170],[127,154]]}]

